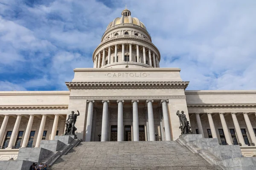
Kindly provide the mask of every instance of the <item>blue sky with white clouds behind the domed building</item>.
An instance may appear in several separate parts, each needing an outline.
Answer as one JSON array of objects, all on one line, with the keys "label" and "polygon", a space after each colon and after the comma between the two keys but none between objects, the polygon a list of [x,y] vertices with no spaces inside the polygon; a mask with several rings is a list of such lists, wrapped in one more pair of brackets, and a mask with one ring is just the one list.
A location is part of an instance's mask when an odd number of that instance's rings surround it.
[{"label": "blue sky with white clouds behind the domed building", "polygon": [[187,90],[256,90],[256,0],[0,0],[0,91],[62,91],[127,5]]}]

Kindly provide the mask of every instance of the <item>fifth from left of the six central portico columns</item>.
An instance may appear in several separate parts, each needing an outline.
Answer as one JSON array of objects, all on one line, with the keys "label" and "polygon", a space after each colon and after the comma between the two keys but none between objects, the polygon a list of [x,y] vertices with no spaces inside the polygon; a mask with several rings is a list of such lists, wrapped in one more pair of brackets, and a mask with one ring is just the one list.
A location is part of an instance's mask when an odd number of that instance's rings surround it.
[{"label": "fifth from left of the six central portico columns", "polygon": [[153,102],[154,102],[154,100],[146,100],[146,102],[148,103],[149,138],[150,138],[150,141],[155,141],[155,135],[154,135],[154,115],[153,115]]}]

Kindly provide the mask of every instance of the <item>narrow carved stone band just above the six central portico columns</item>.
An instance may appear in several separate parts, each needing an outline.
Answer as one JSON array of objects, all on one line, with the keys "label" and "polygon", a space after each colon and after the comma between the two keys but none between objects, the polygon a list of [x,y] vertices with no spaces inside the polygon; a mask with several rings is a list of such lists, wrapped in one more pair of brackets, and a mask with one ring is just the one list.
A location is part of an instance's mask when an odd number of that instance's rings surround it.
[{"label": "narrow carved stone band just above the six central portico columns", "polygon": [[87,100],[134,100],[134,99],[186,99],[186,96],[70,96],[70,99],[87,99]]}]

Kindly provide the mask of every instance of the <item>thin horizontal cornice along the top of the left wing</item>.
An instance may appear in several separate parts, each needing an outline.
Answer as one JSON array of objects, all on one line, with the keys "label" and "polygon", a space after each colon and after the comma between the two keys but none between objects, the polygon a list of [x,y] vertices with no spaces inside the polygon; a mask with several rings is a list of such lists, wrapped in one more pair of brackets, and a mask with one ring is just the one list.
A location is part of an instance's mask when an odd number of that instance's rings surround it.
[{"label": "thin horizontal cornice along the top of the left wing", "polygon": [[68,105],[0,105],[3,109],[67,109]]}]

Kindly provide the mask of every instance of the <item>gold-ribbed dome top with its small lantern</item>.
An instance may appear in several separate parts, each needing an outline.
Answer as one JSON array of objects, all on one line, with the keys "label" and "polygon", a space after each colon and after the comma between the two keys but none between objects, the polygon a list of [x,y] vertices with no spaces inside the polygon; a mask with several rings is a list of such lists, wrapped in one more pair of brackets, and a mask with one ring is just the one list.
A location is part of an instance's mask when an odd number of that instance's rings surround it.
[{"label": "gold-ribbed dome top with its small lantern", "polygon": [[108,24],[107,30],[113,26],[119,25],[119,24],[134,24],[137,26],[140,26],[146,30],[145,25],[138,19],[131,17],[131,11],[128,9],[125,9],[122,11],[122,17],[115,18],[113,22]]}]

